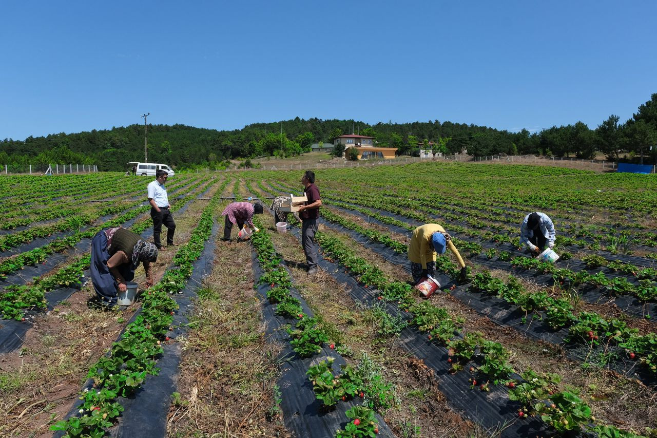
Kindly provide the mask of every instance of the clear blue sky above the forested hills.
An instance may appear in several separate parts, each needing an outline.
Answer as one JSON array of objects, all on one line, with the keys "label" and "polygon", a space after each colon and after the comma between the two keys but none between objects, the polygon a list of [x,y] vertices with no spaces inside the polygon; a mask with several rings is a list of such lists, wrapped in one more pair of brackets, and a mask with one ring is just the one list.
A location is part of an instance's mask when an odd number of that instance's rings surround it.
[{"label": "clear blue sky above the forested hills", "polygon": [[0,139],[299,116],[542,130],[657,93],[657,1],[0,2]]}]

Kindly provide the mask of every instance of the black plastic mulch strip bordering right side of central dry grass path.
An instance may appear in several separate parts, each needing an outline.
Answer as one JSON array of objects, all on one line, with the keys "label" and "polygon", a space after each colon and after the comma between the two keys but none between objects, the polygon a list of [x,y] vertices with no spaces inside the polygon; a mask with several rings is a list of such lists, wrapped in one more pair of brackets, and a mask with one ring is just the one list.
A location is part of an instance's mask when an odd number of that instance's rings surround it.
[{"label": "black plastic mulch strip bordering right side of central dry grass path", "polygon": [[[263,275],[255,252],[252,255],[254,266],[254,275],[258,279]],[[287,270],[287,267],[283,267]],[[289,274],[289,270],[288,270]],[[318,364],[322,360],[332,357],[334,374],[340,374],[340,365],[346,364],[346,361],[336,351],[327,347],[322,347],[321,353],[317,353],[312,358],[300,358],[294,353],[290,343],[289,336],[285,331],[286,326],[293,326],[296,320],[283,318],[276,314],[275,304],[269,303],[267,291],[270,289],[268,284],[260,284],[256,287],[260,301],[262,303],[262,315],[266,328],[267,339],[281,346],[282,351],[279,355],[281,376],[277,384],[281,391],[281,410],[283,411],[284,424],[289,431],[296,437],[304,438],[325,438],[334,437],[337,429],[344,429],[348,423],[345,415],[346,410],[358,403],[355,399],[350,401],[338,401],[336,406],[330,410],[323,409],[322,402],[315,397],[313,385],[306,376],[306,371],[310,366]],[[301,301],[301,306],[308,316],[312,312],[303,297],[291,288],[292,296]],[[376,414],[379,423],[380,437],[394,437],[386,423]]]}]

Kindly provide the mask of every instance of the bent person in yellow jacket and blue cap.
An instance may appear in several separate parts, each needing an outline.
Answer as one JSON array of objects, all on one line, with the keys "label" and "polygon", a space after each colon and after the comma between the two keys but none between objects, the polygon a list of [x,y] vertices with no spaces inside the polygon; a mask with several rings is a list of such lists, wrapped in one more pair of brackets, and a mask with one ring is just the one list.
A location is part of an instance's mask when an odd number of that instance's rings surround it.
[{"label": "bent person in yellow jacket and blue cap", "polygon": [[461,277],[464,278],[466,274],[465,263],[447,231],[438,224],[424,224],[415,228],[408,250],[411,274],[415,284],[427,275],[434,276],[436,272],[436,253],[444,254],[447,248],[459,260]]}]

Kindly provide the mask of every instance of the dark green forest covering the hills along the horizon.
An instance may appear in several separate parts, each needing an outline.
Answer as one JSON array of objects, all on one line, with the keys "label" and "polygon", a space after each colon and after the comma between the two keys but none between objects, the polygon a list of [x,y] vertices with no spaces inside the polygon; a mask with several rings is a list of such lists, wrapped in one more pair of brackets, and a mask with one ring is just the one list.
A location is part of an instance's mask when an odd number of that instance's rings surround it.
[{"label": "dark green forest covering the hills along the horizon", "polygon": [[[125,162],[143,160],[144,126],[51,134],[24,140],[0,141],[0,164],[97,164],[99,170],[125,170]],[[356,120],[294,118],[254,123],[241,130],[218,131],[180,124],[148,125],[148,161],[175,168],[217,166],[225,159],[263,155],[290,156],[310,150],[312,143],[332,143],[342,134],[374,137],[379,146],[396,147],[399,155],[417,155],[429,141],[434,151],[483,157],[489,155],[544,155],[657,163],[657,93],[620,123],[609,116],[591,130],[583,122],[553,126],[541,132],[509,132],[486,126],[438,120],[366,124]],[[422,146],[424,144],[424,146]]]}]

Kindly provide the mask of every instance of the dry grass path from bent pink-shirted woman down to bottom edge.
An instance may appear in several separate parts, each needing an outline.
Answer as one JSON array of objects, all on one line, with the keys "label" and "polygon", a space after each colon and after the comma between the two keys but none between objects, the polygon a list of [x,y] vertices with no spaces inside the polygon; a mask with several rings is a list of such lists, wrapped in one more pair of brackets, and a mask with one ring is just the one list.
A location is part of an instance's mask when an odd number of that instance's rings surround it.
[{"label": "dry grass path from bent pink-shirted woman down to bottom edge", "polygon": [[279,348],[263,336],[250,255],[248,243],[217,240],[216,267],[191,316],[169,436],[289,436],[275,402]]}]

